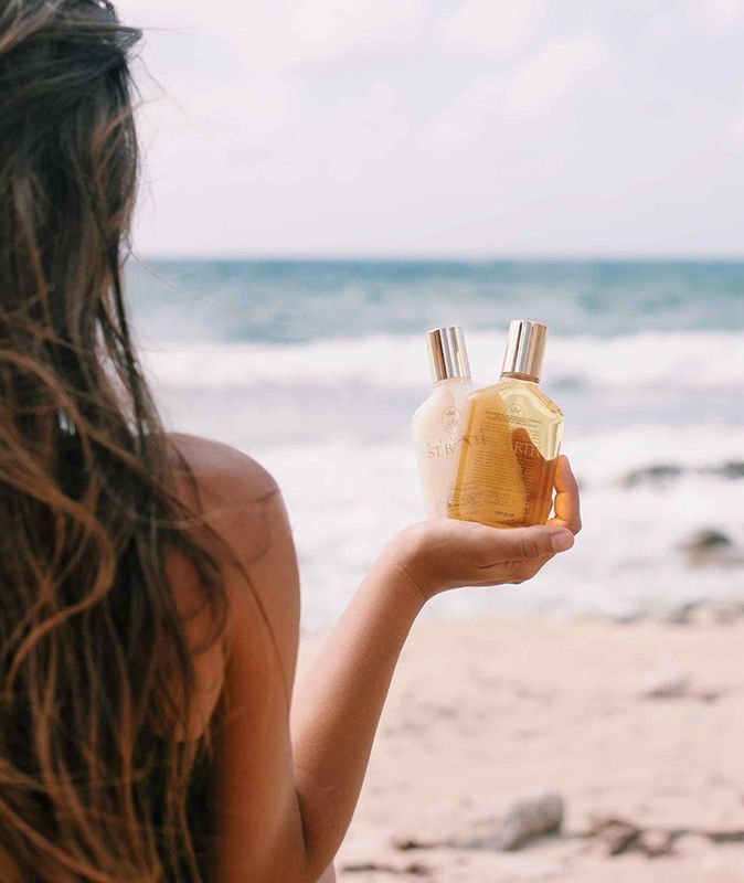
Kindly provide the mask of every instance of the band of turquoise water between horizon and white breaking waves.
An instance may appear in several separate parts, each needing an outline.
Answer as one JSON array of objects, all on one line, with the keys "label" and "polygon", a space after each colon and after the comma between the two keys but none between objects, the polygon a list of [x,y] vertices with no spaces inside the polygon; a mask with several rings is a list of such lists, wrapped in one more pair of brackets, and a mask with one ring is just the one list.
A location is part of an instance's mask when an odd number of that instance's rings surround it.
[{"label": "band of turquoise water between horizon and white breaking waves", "polygon": [[555,334],[744,329],[744,263],[153,262],[131,267],[144,326],[168,339],[301,342],[499,329]]}]

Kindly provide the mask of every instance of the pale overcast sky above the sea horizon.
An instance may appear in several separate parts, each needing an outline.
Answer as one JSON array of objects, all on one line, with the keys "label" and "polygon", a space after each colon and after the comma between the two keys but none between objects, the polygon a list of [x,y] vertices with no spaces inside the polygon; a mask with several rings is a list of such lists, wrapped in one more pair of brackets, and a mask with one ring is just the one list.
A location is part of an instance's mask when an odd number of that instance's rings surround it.
[{"label": "pale overcast sky above the sea horizon", "polygon": [[118,8],[145,255],[744,255],[744,0]]}]

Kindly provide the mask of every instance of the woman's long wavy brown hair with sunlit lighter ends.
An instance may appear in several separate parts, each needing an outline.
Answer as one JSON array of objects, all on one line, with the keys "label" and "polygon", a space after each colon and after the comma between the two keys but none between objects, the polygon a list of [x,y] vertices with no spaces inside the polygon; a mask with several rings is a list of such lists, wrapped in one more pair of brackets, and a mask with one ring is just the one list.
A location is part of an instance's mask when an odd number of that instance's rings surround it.
[{"label": "woman's long wavy brown hair with sunlit lighter ends", "polygon": [[196,568],[214,640],[225,597],[123,301],[139,36],[105,0],[0,0],[3,883],[200,879],[163,550]]}]

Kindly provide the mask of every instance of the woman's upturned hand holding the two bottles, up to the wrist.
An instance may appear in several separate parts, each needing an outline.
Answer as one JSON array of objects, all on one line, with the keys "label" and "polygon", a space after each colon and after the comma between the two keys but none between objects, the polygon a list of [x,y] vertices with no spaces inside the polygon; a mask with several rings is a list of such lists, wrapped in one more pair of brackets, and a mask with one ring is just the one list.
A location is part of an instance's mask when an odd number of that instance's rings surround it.
[{"label": "woman's upturned hand holding the two bottles, up to the wrist", "polygon": [[578,486],[566,457],[559,458],[555,491],[555,518],[545,526],[504,530],[432,519],[393,538],[383,561],[403,574],[424,600],[459,586],[523,583],[555,554],[571,549],[582,528]]}]

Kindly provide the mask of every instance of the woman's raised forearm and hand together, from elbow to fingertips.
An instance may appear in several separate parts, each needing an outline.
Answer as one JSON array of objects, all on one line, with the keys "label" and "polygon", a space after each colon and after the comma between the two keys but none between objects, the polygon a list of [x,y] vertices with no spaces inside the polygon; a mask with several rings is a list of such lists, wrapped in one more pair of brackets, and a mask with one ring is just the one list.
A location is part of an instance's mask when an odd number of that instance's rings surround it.
[{"label": "woman's raised forearm and hand together, from elbow to fingertips", "polygon": [[[297,690],[295,785],[309,858],[336,853],[351,821],[400,652],[425,602],[463,585],[520,583],[581,530],[576,482],[563,459],[557,517],[546,528],[499,531],[447,519],[398,534],[373,565]],[[554,539],[557,543],[554,545]]]}]

